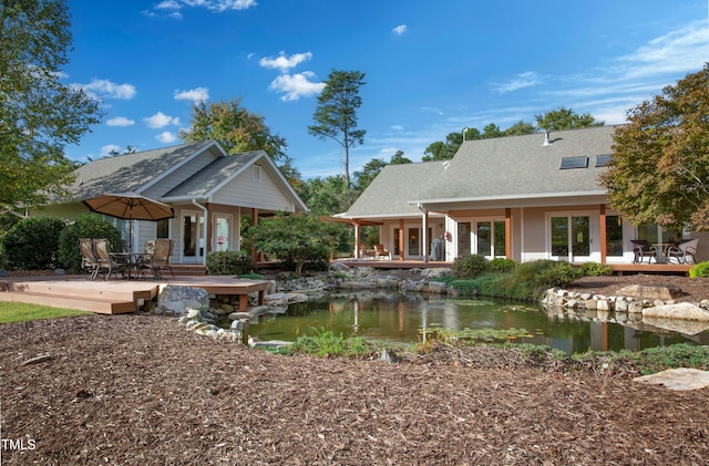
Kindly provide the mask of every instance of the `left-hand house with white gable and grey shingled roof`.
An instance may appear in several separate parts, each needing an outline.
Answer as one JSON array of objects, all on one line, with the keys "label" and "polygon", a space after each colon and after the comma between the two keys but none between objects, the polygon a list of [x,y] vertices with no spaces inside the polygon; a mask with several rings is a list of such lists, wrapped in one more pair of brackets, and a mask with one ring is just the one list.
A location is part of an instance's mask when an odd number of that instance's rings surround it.
[{"label": "left-hand house with white gable and grey shingled roof", "polygon": [[228,155],[216,141],[207,141],[93,160],[75,170],[70,198],[31,215],[72,219],[88,211],[83,199],[125,191],[169,205],[175,217],[133,220],[132,226],[106,220],[123,231],[126,242],[131,238],[131,250],[142,250],[150,239],[172,238],[173,263],[204,263],[209,251],[240,249],[242,215],[257,221],[259,215],[308,210],[264,151]]}]

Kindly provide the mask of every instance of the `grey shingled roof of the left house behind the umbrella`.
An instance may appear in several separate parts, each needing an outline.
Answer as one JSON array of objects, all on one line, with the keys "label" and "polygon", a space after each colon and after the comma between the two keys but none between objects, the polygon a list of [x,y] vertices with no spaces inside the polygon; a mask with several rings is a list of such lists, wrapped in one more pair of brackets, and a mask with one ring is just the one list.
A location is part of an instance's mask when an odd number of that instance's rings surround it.
[{"label": "grey shingled roof of the left house behind the umbrella", "polygon": [[142,193],[205,151],[226,155],[215,141],[206,141],[100,158],[74,172],[76,177],[69,193],[75,200],[105,193]]}]

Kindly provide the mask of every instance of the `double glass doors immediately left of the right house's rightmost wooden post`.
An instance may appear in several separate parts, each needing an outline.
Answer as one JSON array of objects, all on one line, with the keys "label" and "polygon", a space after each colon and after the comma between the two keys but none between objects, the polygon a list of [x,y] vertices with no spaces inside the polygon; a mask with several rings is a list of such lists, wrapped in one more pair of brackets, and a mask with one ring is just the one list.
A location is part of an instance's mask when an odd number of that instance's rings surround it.
[{"label": "double glass doors immediately left of the right house's rightmost wooden post", "polygon": [[590,260],[589,216],[552,216],[549,227],[552,259],[569,262]]}]

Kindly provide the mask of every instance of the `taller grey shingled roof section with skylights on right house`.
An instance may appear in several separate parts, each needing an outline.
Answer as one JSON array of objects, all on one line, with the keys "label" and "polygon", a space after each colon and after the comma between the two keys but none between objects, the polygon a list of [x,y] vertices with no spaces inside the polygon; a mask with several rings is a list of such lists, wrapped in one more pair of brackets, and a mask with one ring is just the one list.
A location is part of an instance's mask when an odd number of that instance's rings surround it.
[{"label": "taller grey shingled roof section with skylights on right house", "polygon": [[[461,145],[438,183],[411,201],[475,200],[605,195],[596,157],[612,153],[614,126],[549,134],[469,141]],[[562,160],[587,157],[587,166],[561,169]]]}]

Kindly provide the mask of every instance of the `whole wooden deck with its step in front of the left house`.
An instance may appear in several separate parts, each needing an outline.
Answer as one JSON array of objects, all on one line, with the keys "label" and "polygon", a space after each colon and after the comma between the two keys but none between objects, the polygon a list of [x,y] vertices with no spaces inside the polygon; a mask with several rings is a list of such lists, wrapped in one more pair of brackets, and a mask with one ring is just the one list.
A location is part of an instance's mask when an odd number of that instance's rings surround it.
[{"label": "whole wooden deck with its step in front of the left house", "polygon": [[150,310],[161,286],[178,284],[203,288],[210,294],[239,297],[246,309],[248,294],[258,292],[264,302],[267,281],[240,280],[228,276],[181,277],[161,280],[89,280],[88,276],[14,277],[0,279],[0,301],[27,302],[53,308],[76,309],[103,314],[134,313]]}]

